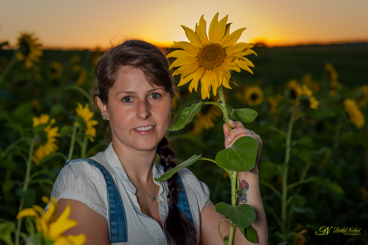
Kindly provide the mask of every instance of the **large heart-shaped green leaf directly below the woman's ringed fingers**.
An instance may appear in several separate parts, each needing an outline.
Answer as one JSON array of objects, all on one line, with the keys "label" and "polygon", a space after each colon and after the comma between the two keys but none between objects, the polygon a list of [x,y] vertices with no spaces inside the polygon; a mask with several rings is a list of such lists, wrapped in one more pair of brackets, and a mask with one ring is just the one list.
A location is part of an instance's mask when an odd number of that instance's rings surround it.
[{"label": "large heart-shaped green leaf directly below the woman's ringed fingers", "polygon": [[238,138],[229,148],[216,155],[216,163],[219,167],[244,172],[252,169],[258,150],[258,142],[250,136]]}]

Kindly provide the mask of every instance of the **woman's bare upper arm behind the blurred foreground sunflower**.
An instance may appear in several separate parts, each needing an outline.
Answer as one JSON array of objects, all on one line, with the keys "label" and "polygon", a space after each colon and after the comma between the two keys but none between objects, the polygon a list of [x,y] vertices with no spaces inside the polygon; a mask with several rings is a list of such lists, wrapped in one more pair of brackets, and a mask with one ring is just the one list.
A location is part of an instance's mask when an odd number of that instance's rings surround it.
[{"label": "woman's bare upper arm behind the blurred foreground sunflower", "polygon": [[77,226],[67,230],[63,235],[84,234],[87,238],[84,245],[110,245],[109,225],[101,214],[77,200],[60,199],[57,204],[58,216],[70,204],[69,219],[78,221]]}]

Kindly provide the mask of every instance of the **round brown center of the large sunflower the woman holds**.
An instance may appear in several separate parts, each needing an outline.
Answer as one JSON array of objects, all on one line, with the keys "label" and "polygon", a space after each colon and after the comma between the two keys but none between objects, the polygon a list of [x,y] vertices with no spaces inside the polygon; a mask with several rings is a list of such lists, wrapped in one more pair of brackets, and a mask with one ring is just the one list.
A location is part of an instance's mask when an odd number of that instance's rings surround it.
[{"label": "round brown center of the large sunflower the woman holds", "polygon": [[206,70],[219,67],[226,58],[225,49],[218,43],[203,45],[198,52],[198,63]]}]

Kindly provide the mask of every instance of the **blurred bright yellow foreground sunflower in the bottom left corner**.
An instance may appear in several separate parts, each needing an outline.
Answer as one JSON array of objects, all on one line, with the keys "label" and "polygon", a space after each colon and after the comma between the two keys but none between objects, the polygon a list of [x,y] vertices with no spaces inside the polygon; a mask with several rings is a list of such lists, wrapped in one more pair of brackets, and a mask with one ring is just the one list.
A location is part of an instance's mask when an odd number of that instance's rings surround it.
[{"label": "blurred bright yellow foreground sunflower in the bottom left corner", "polygon": [[[46,196],[43,196],[42,200],[45,203],[50,202],[50,200]],[[27,216],[35,217],[37,231],[43,232],[43,237],[49,238],[51,241],[53,241],[53,245],[84,244],[84,242],[86,241],[85,235],[61,235],[64,231],[69,230],[70,228],[78,224],[77,221],[68,218],[70,214],[70,205],[68,205],[64,209],[63,213],[60,214],[58,219],[56,219],[57,210],[58,205],[55,198],[53,197],[46,214],[43,213],[42,207],[33,205],[32,208],[29,207],[21,210],[17,215],[17,219],[21,219]]]}]

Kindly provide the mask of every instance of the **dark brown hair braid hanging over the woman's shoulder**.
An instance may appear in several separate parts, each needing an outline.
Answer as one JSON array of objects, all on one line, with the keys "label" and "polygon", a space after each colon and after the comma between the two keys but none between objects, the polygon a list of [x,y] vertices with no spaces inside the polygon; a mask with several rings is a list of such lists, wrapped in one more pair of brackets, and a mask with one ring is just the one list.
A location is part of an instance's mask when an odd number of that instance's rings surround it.
[{"label": "dark brown hair braid hanging over the woman's shoulder", "polygon": [[[164,171],[177,166],[174,150],[170,149],[169,141],[164,137],[157,146],[157,153],[161,157],[160,163],[164,167]],[[164,229],[169,239],[170,245],[194,245],[198,244],[197,232],[192,223],[184,216],[177,206],[179,184],[177,182],[178,173],[175,173],[167,183],[169,184],[169,193],[167,193],[167,200],[172,209],[169,209],[166,220],[164,221]]]}]

